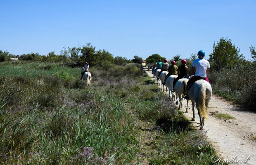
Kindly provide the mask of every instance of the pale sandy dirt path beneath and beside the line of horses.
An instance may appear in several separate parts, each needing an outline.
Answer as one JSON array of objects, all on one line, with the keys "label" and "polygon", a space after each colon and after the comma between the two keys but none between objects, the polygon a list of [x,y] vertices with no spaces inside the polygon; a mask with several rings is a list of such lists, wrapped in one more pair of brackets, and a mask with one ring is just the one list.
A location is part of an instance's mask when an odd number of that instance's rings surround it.
[{"label": "pale sandy dirt path beneath and beside the line of horses", "polygon": [[[153,78],[151,72],[147,73]],[[160,85],[159,87],[161,88]],[[183,100],[181,111],[186,111],[186,104],[187,101]],[[193,116],[191,101],[189,101],[188,111],[184,114],[191,119]],[[215,146],[218,155],[223,156],[222,160],[228,159],[229,162],[232,162],[228,164],[232,165],[256,165],[256,141],[254,140],[256,137],[256,113],[245,111],[216,95],[211,97],[208,112],[209,120],[206,119],[204,130],[207,131],[206,135],[211,144]],[[217,119],[214,117],[216,113],[229,114],[236,119]],[[195,109],[195,116],[193,127],[199,129],[200,120],[197,109]],[[221,162],[219,164],[221,165]]]}]

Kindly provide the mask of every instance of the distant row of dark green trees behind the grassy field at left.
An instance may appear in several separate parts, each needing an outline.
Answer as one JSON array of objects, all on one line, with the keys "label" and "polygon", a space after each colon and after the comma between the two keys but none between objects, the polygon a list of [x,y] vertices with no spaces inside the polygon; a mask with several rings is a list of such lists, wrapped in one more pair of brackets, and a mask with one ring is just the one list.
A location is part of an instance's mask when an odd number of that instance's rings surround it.
[{"label": "distant row of dark green trees behind the grassy field at left", "polygon": [[[3,52],[0,50],[0,62],[8,61],[8,58],[16,57],[9,52]],[[85,62],[88,62],[90,66],[102,66],[107,67],[111,64],[126,65],[128,63],[141,63],[142,58],[134,56],[133,59],[127,59],[126,57],[116,56],[108,52],[107,50],[96,50],[96,47],[88,43],[86,46],[79,46],[66,49],[55,54],[50,52],[47,55],[40,55],[39,53],[28,53],[19,56],[19,60],[24,61],[49,61],[49,62],[64,62],[70,67],[83,66]]]}]

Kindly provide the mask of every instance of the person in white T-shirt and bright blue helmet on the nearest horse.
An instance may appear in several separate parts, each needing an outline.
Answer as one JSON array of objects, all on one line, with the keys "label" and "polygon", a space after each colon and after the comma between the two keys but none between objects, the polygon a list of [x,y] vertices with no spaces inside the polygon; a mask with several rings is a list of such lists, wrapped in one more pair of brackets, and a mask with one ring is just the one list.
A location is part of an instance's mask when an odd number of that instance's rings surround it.
[{"label": "person in white T-shirt and bright blue helmet on the nearest horse", "polygon": [[[209,61],[204,59],[205,52],[203,50],[200,50],[197,53],[197,56],[198,56],[199,59],[195,59],[193,61],[192,69],[191,69],[194,76],[192,78],[190,78],[190,80],[188,80],[186,91],[188,91],[188,89],[191,87],[191,85],[197,80],[202,79],[202,80],[206,80],[207,82],[209,82],[206,75],[209,73],[210,64],[209,64]],[[184,99],[189,99],[187,94],[183,98]]]}]

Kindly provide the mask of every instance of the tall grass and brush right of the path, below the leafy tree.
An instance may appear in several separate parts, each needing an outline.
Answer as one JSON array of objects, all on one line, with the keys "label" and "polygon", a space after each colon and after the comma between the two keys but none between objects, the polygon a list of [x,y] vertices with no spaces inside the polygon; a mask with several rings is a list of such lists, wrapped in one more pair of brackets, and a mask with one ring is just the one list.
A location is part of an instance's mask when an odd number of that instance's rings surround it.
[{"label": "tall grass and brush right of the path, below the leafy tree", "polygon": [[237,104],[255,105],[256,71],[254,63],[244,61],[228,68],[213,68],[207,77],[216,94]]}]

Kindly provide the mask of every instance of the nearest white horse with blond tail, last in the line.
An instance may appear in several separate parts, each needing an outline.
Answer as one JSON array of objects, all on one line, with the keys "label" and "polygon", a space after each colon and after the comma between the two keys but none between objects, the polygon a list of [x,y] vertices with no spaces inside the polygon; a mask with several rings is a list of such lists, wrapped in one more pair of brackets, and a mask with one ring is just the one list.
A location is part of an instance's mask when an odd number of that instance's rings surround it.
[{"label": "nearest white horse with blond tail, last in the line", "polygon": [[[197,80],[194,82],[190,90],[188,91],[188,97],[192,101],[192,111],[193,111],[193,118],[194,121],[194,103],[196,103],[198,115],[200,118],[200,130],[203,130],[204,125],[204,118],[208,119],[207,108],[209,105],[209,101],[211,99],[211,85],[206,80]],[[201,118],[201,115],[204,116]]]}]

